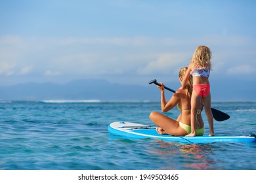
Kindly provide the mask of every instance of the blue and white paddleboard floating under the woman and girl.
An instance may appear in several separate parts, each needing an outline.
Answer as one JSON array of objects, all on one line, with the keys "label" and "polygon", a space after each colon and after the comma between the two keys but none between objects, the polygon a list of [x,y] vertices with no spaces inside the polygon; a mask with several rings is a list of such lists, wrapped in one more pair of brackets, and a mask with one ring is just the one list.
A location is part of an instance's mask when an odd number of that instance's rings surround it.
[{"label": "blue and white paddleboard floating under the woman and girl", "polygon": [[156,132],[155,127],[149,125],[135,124],[130,122],[113,122],[108,125],[108,131],[113,135],[119,135],[125,138],[132,139],[161,139],[163,141],[173,141],[182,143],[212,143],[212,142],[256,142],[255,137],[250,136],[196,136],[196,137],[184,137],[184,136],[172,136],[172,135],[160,135]]}]

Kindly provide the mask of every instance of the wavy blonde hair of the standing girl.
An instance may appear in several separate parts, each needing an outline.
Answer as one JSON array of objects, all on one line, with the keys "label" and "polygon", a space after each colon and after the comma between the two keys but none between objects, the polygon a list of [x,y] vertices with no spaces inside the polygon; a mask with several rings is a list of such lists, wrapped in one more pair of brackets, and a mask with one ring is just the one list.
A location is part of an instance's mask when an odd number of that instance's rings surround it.
[{"label": "wavy blonde hair of the standing girl", "polygon": [[195,63],[197,67],[209,67],[211,70],[211,50],[207,46],[198,46],[196,48],[191,62]]}]

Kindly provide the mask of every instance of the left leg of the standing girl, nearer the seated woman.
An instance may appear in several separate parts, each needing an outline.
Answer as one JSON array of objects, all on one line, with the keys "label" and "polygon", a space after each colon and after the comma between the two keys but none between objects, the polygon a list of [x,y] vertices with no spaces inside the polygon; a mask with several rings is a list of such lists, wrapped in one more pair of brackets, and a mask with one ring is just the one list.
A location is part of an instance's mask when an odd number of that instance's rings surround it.
[{"label": "left leg of the standing girl, nearer the seated woman", "polygon": [[190,115],[191,133],[186,135],[186,137],[196,136],[196,115],[197,115],[198,106],[200,106],[200,103],[201,103],[201,97],[199,97],[198,94],[193,90],[191,95],[191,115]]}]

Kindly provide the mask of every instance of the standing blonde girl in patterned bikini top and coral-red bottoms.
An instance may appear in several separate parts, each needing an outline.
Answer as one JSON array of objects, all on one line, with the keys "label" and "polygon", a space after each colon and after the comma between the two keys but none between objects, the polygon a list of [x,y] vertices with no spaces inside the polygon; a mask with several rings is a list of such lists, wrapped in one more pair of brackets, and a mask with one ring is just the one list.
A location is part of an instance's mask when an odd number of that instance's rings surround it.
[{"label": "standing blonde girl in patterned bikini top and coral-red bottoms", "polygon": [[198,114],[198,105],[203,102],[205,114],[209,123],[209,136],[214,136],[213,114],[211,113],[211,93],[209,84],[209,75],[211,71],[211,50],[207,46],[198,46],[188,65],[188,70],[181,82],[181,89],[185,88],[186,82],[193,77],[193,92],[191,96],[191,133],[188,137],[196,136],[196,115]]}]

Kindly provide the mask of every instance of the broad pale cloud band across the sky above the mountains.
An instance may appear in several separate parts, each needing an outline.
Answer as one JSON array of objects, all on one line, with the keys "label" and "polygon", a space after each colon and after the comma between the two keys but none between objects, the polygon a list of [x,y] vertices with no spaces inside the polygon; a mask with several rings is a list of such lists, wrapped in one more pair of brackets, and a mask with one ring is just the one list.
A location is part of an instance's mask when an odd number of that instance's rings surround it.
[{"label": "broad pale cloud band across the sky above the mountains", "polygon": [[[204,36],[191,39],[166,37],[106,37],[81,39],[0,37],[0,75],[26,79],[127,78],[177,74],[188,65],[196,47],[209,45],[213,51],[213,70],[229,74],[253,73],[254,47],[246,37]],[[232,44],[232,45],[231,45]],[[251,46],[252,45],[252,46]],[[245,59],[245,56],[247,58]],[[240,60],[242,67],[236,67]],[[249,61],[250,60],[250,61]],[[251,65],[250,65],[251,66]],[[36,73],[36,74],[35,74]],[[33,74],[33,75],[32,75]],[[47,77],[46,77],[47,76]],[[25,77],[24,77],[25,78]]]}]

